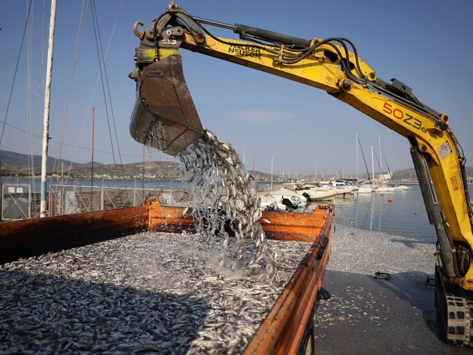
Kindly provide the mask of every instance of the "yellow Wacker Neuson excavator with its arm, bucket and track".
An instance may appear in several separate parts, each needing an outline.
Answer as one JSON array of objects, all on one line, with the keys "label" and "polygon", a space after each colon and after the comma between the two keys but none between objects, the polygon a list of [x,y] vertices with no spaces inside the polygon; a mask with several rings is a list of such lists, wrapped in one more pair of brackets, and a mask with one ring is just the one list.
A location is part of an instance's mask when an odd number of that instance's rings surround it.
[{"label": "yellow Wacker Neuson excavator with its arm, bucket and track", "polygon": [[[265,71],[326,91],[404,136],[437,233],[435,302],[445,341],[473,347],[472,207],[465,158],[448,116],[424,105],[397,79],[383,81],[347,38],[304,39],[191,16],[174,2],[148,29],[136,22],[136,141],[175,155],[204,134],[184,80],[179,49]],[[233,31],[213,36],[204,26]]]}]

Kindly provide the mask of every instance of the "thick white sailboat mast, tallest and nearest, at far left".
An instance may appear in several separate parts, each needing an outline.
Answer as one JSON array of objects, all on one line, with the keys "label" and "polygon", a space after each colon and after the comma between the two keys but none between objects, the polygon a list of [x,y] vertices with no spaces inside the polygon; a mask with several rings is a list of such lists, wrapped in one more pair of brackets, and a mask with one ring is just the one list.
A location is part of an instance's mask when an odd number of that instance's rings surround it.
[{"label": "thick white sailboat mast, tallest and nearest, at far left", "polygon": [[49,142],[49,106],[51,104],[51,79],[53,71],[53,49],[54,49],[54,30],[56,27],[56,0],[51,0],[51,16],[49,20],[49,42],[48,42],[48,61],[46,68],[46,92],[44,94],[44,120],[43,120],[43,148],[41,155],[41,203],[39,207],[39,216],[46,217],[46,171],[48,160],[48,142]]}]

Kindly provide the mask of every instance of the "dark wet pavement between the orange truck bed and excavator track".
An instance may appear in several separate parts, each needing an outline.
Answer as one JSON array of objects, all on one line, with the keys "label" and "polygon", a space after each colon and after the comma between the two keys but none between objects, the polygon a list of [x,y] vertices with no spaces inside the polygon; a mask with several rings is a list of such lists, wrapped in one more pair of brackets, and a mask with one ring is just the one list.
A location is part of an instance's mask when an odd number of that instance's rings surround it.
[{"label": "dark wet pavement between the orange truck bed and excavator track", "polygon": [[317,355],[473,355],[440,340],[433,283],[373,276],[327,270],[332,297],[318,304]]}]

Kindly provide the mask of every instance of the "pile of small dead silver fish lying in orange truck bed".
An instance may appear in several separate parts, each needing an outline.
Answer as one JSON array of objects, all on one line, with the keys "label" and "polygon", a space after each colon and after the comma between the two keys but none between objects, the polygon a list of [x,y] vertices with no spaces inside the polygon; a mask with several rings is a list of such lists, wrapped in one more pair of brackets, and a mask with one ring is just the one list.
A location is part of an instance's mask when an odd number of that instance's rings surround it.
[{"label": "pile of small dead silver fish lying in orange truck bed", "polygon": [[146,232],[1,265],[0,354],[241,354],[310,243],[268,241],[269,282],[205,238]]}]

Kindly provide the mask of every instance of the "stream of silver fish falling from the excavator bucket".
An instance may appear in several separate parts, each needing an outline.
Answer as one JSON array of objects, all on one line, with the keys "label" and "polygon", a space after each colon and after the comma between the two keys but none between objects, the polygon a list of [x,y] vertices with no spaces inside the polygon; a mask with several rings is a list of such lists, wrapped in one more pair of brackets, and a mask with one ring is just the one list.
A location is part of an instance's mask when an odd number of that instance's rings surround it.
[{"label": "stream of silver fish falling from the excavator bucket", "polygon": [[[221,264],[231,263],[233,270],[246,267],[247,272],[260,272],[263,266],[270,279],[277,279],[277,253],[268,249],[260,224],[258,185],[236,150],[206,131],[177,156],[182,187],[193,201],[197,230],[219,249]],[[256,244],[255,253],[249,257],[245,247],[252,243]]]}]

